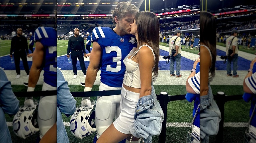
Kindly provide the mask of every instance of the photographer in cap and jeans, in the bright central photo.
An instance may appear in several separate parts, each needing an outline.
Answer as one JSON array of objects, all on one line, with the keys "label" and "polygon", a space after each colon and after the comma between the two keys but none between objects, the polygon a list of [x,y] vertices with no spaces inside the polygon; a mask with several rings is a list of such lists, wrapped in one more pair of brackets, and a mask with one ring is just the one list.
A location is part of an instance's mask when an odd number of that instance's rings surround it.
[{"label": "photographer in cap and jeans, in the bright central photo", "polygon": [[174,31],[174,36],[170,39],[171,44],[169,47],[170,59],[170,76],[174,74],[174,61],[176,61],[176,78],[182,77],[180,74],[181,69],[181,33],[182,31],[177,29]]}]

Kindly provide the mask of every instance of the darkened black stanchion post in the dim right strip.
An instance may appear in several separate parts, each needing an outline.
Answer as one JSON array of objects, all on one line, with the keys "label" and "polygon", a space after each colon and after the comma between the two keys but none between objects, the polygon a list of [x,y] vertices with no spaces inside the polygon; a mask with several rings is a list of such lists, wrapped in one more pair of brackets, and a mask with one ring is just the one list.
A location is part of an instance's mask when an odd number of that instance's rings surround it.
[{"label": "darkened black stanchion post in the dim right strip", "polygon": [[224,123],[224,105],[225,105],[225,93],[224,92],[217,92],[217,100],[216,103],[221,111],[221,121],[219,125],[219,132],[216,135],[216,143],[223,142],[223,123]]}]

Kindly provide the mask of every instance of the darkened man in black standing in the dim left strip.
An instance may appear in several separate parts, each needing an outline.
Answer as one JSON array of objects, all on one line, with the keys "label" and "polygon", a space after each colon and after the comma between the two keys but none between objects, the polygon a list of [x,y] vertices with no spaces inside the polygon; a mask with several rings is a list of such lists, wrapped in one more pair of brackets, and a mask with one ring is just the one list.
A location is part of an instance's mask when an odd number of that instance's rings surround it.
[{"label": "darkened man in black standing in the dim left strip", "polygon": [[17,76],[20,78],[20,58],[23,62],[24,69],[29,76],[29,65],[27,61],[27,55],[29,54],[28,41],[22,36],[22,29],[17,29],[17,35],[11,39],[10,57],[12,58],[12,52],[14,52],[15,69]]}]

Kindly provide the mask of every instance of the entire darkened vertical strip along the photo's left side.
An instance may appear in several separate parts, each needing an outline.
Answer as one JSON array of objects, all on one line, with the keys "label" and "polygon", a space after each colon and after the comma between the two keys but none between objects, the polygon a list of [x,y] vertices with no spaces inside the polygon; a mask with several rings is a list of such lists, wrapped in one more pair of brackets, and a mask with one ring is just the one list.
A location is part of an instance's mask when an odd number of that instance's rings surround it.
[{"label": "entire darkened vertical strip along the photo's left side", "polygon": [[43,141],[56,133],[56,2],[0,5],[0,142]]}]

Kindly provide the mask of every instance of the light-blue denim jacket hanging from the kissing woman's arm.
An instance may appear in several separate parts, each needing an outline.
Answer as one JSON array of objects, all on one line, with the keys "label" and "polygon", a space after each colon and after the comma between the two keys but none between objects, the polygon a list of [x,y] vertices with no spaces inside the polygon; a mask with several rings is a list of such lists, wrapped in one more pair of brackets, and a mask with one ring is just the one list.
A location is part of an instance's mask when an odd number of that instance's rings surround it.
[{"label": "light-blue denim jacket hanging from the kissing woman's arm", "polygon": [[152,143],[152,135],[160,135],[164,120],[152,83],[151,87],[151,95],[139,98],[135,107],[135,120],[130,128],[131,134],[136,138],[144,138],[145,143]]}]

